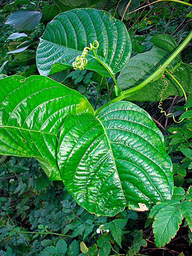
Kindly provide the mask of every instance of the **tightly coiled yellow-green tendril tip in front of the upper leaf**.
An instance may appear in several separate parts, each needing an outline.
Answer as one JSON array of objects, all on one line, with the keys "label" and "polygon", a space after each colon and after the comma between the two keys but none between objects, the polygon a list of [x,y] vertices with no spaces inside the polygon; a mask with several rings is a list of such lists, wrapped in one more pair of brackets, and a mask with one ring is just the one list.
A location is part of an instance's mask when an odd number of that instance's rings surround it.
[{"label": "tightly coiled yellow-green tendril tip in front of the upper leaf", "polygon": [[[94,46],[95,43],[97,44],[96,46]],[[88,62],[85,56],[88,54],[89,51],[92,51],[93,49],[97,49],[98,47],[99,47],[99,43],[97,40],[95,40],[93,44],[90,43],[90,47],[84,47],[84,50],[81,56],[80,55],[77,56],[75,59],[75,62],[72,63],[73,68],[84,70],[84,67],[87,65],[87,62]]]}]

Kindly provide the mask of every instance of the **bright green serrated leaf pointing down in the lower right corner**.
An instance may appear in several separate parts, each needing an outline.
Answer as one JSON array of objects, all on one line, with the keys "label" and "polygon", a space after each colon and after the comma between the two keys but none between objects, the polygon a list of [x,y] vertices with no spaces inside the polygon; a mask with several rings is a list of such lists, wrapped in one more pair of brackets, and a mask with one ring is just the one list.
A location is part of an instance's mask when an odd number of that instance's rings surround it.
[{"label": "bright green serrated leaf pointing down in the lower right corner", "polygon": [[155,235],[155,245],[162,247],[175,237],[179,225],[182,223],[182,216],[175,206],[167,206],[160,209],[155,216],[153,232]]}]

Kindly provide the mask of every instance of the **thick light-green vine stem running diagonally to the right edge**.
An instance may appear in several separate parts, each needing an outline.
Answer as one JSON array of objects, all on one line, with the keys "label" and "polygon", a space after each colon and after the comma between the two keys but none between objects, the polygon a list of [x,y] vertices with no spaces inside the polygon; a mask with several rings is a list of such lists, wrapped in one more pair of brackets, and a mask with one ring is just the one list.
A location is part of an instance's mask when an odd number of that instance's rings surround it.
[{"label": "thick light-green vine stem running diagonally to the right edge", "polygon": [[127,96],[130,96],[130,95],[134,94],[136,91],[140,90],[145,85],[147,85],[156,76],[158,76],[162,72],[162,70],[165,70],[165,68],[168,66],[168,64],[170,64],[174,60],[174,58],[184,49],[184,47],[187,45],[187,43],[189,43],[191,41],[191,39],[192,39],[192,31],[189,33],[187,38],[185,38],[183,43],[169,56],[169,58],[167,58],[167,60],[161,66],[159,66],[159,68],[155,72],[153,72],[150,76],[148,76],[139,85],[136,85],[135,87],[132,87],[128,90],[122,91],[121,94],[117,98],[111,100],[110,102],[104,104],[102,107],[98,108],[95,111],[94,115],[97,115],[103,108],[107,107],[109,104],[111,104],[113,102],[120,101],[120,100],[124,100],[124,99],[126,99]]}]

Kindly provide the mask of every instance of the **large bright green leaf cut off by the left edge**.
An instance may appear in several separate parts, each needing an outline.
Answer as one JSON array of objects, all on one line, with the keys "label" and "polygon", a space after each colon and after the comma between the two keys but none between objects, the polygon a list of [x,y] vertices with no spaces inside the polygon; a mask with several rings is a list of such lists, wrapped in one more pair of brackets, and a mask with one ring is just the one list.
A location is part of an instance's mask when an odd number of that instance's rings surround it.
[{"label": "large bright green leaf cut off by the left edge", "polygon": [[61,180],[56,163],[58,130],[68,114],[93,113],[79,92],[44,76],[0,80],[0,154],[34,156],[51,180]]}]

